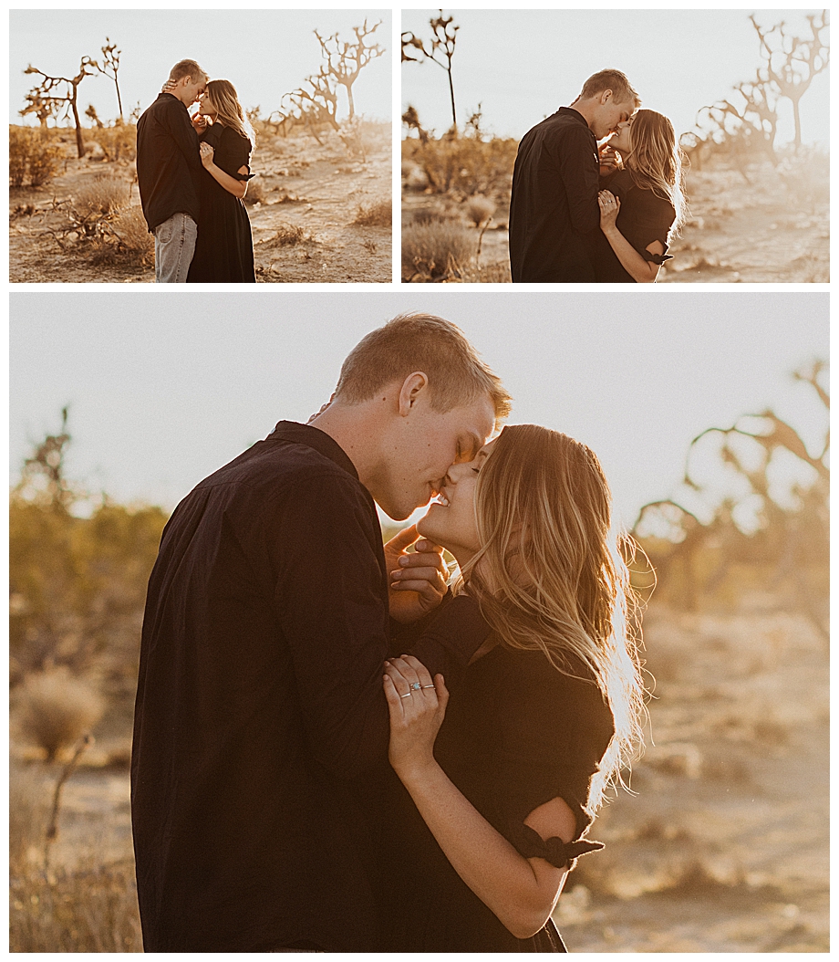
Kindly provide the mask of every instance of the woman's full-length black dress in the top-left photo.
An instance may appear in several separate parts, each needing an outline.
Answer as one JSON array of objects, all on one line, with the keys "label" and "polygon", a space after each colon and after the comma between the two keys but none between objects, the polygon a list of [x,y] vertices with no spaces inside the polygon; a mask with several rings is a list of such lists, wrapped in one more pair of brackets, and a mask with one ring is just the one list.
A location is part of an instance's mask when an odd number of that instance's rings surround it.
[{"label": "woman's full-length black dress in the top-left photo", "polygon": [[[250,170],[250,140],[222,124],[213,124],[201,139],[215,151],[216,166],[236,180],[250,180],[252,174],[238,172],[242,165]],[[202,168],[198,241],[186,283],[255,284],[256,281],[254,242],[245,205]]]}]

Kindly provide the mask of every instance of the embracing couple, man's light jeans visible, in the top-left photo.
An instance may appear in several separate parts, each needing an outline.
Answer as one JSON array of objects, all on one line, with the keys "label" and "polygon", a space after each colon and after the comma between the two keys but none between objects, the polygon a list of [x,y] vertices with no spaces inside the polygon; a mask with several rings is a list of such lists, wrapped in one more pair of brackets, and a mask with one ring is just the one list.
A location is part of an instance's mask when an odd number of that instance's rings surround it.
[{"label": "embracing couple, man's light jeans visible, in the top-left photo", "polygon": [[[190,117],[187,108],[198,102]],[[176,63],[136,125],[143,215],[159,284],[255,283],[248,189],[254,130],[229,80]]]}]

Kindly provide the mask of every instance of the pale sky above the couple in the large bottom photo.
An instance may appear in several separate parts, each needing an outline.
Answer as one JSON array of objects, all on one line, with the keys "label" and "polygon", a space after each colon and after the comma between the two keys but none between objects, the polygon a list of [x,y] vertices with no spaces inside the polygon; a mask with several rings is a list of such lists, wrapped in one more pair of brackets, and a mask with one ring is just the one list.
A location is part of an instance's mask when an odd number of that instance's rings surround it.
[{"label": "pale sky above the couple in the large bottom photo", "polygon": [[589,444],[628,525],[674,494],[705,428],[771,407],[815,453],[826,426],[790,374],[827,357],[827,293],[166,293],[12,293],[12,482],[69,404],[70,477],[172,508],[278,420],[307,420],[349,350],[403,311],[461,327],[513,395],[511,423]]}]

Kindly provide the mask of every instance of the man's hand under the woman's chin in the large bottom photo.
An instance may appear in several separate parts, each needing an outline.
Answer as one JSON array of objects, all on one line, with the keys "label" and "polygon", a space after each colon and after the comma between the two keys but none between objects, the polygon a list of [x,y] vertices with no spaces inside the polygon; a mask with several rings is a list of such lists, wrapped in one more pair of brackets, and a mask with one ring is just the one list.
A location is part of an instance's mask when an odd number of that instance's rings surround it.
[{"label": "man's hand under the woman's chin in the large bottom photo", "polygon": [[[415,550],[408,552],[413,544]],[[390,617],[407,624],[427,615],[446,594],[449,570],[443,549],[417,534],[416,525],[400,531],[384,545],[389,579]]]}]

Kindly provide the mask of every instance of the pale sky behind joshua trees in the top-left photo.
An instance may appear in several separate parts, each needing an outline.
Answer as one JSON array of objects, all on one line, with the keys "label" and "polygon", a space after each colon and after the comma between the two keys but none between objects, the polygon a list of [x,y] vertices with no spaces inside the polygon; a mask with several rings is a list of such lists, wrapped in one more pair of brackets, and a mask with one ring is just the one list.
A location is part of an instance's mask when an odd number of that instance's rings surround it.
[{"label": "pale sky behind joshua trees in the top-left photo", "polygon": [[[391,12],[389,10],[220,11],[184,10],[27,10],[10,13],[9,111],[11,123],[22,123],[18,111],[37,76],[23,71],[29,63],[55,76],[73,77],[83,56],[101,60],[110,37],[122,50],[119,87],[123,111],[139,102],[144,110],[157,97],[169,69],[179,60],[198,61],[211,78],[234,84],[245,109],[260,106],[267,116],[280,108],[284,93],[302,86],[321,64],[322,36],[336,31],[342,40],[354,38],[352,28],[364,18],[368,26],[382,20],[373,40],[385,54],[369,63],[353,88],[356,112],[389,119],[391,107]],[[346,116],[346,98],[339,97],[338,119]],[[118,115],[113,82],[86,77],[79,87],[80,114],[93,104],[103,120]],[[27,122],[37,123],[31,115]],[[83,125],[89,120],[83,116]]]}]

